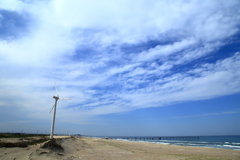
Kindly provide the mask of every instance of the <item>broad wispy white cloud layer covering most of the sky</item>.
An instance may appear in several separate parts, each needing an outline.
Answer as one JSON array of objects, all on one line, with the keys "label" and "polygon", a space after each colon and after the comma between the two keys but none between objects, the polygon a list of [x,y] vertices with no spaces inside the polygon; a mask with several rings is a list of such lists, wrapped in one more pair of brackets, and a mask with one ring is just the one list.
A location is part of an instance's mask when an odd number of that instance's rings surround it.
[{"label": "broad wispy white cloud layer covering most of the sky", "polygon": [[73,120],[239,93],[239,52],[196,63],[231,43],[239,5],[1,1],[0,107],[50,119],[55,81]]}]

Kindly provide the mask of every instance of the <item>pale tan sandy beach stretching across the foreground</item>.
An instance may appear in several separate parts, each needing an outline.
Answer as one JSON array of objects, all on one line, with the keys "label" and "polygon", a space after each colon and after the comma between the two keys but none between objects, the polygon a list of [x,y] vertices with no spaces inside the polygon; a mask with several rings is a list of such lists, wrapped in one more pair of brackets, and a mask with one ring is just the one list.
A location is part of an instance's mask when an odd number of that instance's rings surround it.
[{"label": "pale tan sandy beach stretching across the foreground", "polygon": [[[240,160],[239,150],[213,149],[98,138],[59,140],[64,150],[41,148],[0,148],[0,160]],[[5,141],[5,139],[0,139]],[[8,139],[8,141],[17,141]]]}]

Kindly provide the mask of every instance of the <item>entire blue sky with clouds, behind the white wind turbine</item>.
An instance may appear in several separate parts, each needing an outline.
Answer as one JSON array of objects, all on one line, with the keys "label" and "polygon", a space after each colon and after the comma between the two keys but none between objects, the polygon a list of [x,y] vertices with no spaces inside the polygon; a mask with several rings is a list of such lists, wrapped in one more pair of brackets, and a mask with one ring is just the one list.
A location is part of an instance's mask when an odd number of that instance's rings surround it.
[{"label": "entire blue sky with clouds, behind the white wind turbine", "polygon": [[0,0],[0,132],[240,135],[239,0]]}]

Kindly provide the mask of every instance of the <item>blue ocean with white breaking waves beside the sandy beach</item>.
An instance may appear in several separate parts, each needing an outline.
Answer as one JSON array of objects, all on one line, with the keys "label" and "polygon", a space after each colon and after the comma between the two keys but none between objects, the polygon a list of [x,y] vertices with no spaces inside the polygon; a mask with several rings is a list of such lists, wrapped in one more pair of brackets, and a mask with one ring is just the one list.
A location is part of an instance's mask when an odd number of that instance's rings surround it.
[{"label": "blue ocean with white breaking waves beside the sandy beach", "polygon": [[122,141],[138,141],[146,143],[160,143],[179,146],[240,150],[240,136],[174,136],[174,137],[109,136],[108,138]]}]

